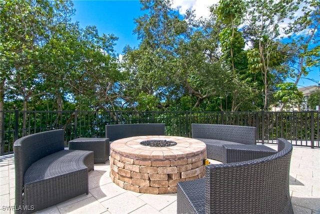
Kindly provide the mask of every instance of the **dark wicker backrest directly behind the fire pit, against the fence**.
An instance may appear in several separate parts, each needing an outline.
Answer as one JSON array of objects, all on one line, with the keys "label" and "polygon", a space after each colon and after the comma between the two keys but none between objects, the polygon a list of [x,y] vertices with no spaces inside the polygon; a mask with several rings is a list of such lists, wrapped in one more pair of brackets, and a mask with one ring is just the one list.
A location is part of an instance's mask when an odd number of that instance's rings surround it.
[{"label": "dark wicker backrest directly behind the fire pit, against the fence", "polygon": [[163,123],[105,125],[105,137],[110,141],[141,135],[164,135]]}]

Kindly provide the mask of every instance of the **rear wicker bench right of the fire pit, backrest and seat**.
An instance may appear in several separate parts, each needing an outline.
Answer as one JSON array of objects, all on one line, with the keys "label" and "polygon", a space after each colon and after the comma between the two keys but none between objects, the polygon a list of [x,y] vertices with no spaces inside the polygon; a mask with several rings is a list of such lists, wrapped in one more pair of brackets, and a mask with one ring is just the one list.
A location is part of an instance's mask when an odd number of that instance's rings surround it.
[{"label": "rear wicker bench right of the fire pit, backrest and seat", "polygon": [[256,144],[256,128],[218,124],[191,124],[192,138],[206,144],[209,159],[222,162],[222,145]]}]

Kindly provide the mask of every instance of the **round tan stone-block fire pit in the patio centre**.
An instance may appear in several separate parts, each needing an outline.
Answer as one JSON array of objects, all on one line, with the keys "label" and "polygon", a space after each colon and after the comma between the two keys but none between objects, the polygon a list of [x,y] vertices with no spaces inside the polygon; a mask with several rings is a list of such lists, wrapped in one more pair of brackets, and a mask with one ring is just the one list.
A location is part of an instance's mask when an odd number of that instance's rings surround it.
[{"label": "round tan stone-block fire pit in the patio centre", "polygon": [[112,181],[130,191],[174,193],[178,181],[204,176],[206,146],[196,139],[178,136],[128,137],[113,141],[110,152]]}]

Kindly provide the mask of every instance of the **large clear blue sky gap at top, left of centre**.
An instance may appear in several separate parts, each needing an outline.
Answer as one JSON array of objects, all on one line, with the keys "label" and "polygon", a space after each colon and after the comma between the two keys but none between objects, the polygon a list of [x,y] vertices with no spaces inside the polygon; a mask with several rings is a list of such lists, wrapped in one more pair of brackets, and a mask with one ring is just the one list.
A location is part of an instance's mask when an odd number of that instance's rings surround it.
[{"label": "large clear blue sky gap at top, left of centre", "polygon": [[133,35],[134,18],[143,15],[139,1],[73,1],[75,16],[81,28],[96,26],[99,35],[114,34],[119,39],[114,50],[121,54],[126,45],[137,47],[139,41]]}]

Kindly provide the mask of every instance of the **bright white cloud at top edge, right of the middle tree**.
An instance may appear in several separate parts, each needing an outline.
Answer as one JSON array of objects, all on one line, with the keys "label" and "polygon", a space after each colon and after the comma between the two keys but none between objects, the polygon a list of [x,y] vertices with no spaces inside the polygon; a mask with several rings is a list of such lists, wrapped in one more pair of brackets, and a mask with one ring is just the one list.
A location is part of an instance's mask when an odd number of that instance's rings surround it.
[{"label": "bright white cloud at top edge, right of the middle tree", "polygon": [[195,11],[195,18],[209,18],[209,7],[217,4],[218,0],[173,0],[172,9],[179,11],[179,14],[185,15],[187,10]]}]

